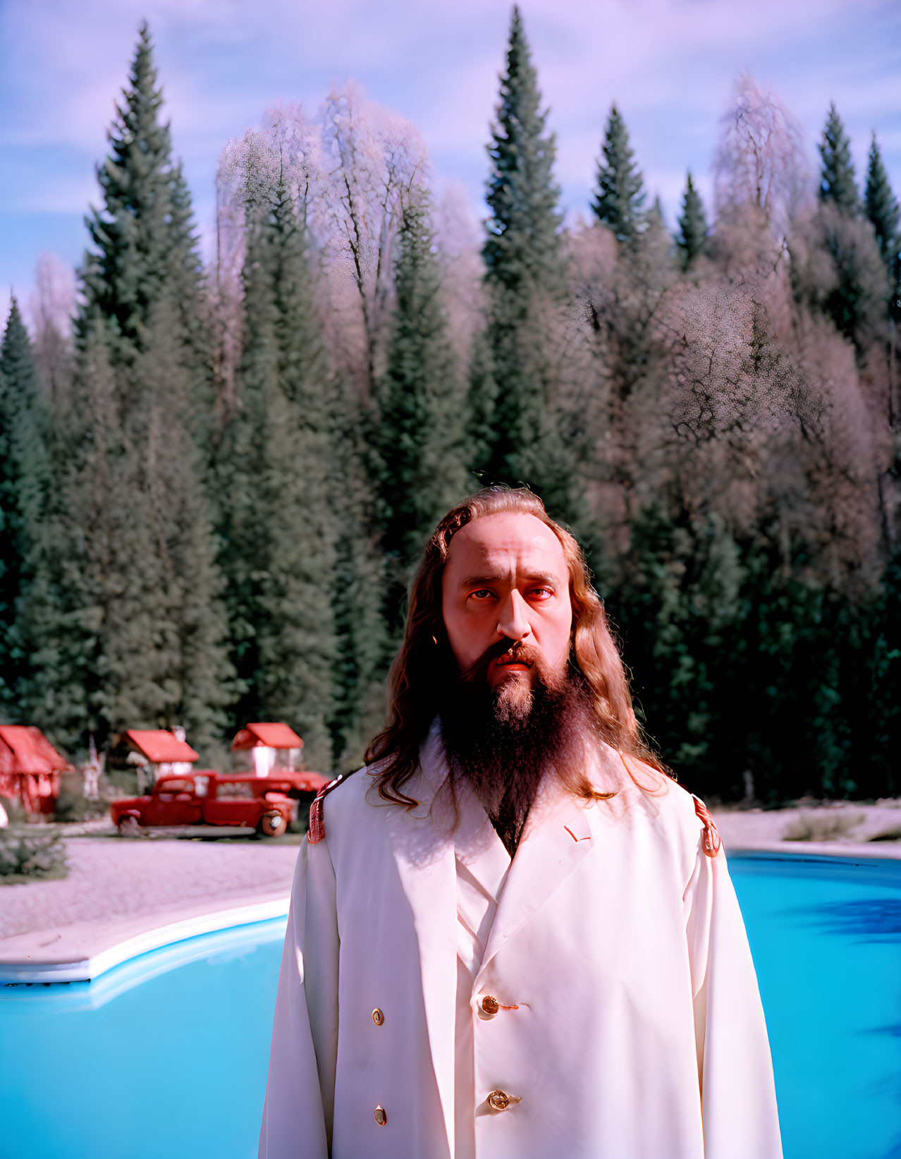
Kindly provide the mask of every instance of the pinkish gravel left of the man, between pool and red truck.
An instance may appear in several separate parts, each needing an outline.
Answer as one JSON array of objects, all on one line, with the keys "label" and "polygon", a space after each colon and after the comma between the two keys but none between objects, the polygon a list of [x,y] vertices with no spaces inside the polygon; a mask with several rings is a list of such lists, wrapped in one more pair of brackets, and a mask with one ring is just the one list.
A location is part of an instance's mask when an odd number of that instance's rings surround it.
[{"label": "pinkish gravel left of the man, between pool and red truck", "polygon": [[207,898],[291,891],[298,846],[257,841],[66,841],[68,877],[0,885],[0,938],[166,913]]}]

